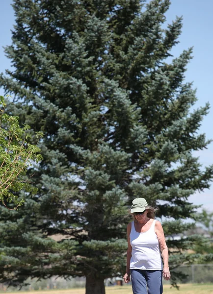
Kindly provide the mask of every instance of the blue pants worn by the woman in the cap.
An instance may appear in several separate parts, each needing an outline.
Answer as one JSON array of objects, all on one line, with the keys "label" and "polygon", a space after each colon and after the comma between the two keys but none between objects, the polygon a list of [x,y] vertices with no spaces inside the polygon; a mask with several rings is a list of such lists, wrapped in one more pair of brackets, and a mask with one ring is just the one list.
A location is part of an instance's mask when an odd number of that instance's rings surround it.
[{"label": "blue pants worn by the woman in the cap", "polygon": [[133,294],[162,294],[162,270],[131,270]]}]

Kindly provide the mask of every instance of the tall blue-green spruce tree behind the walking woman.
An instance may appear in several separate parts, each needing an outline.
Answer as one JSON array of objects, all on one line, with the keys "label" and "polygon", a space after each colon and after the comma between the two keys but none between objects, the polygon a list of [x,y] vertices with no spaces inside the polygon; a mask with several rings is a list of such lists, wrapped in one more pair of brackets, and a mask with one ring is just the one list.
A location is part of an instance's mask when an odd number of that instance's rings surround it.
[{"label": "tall blue-green spruce tree behind the walking woman", "polygon": [[[44,160],[28,171],[38,193],[19,213],[0,208],[1,281],[86,276],[86,294],[104,294],[125,269],[135,197],[159,207],[166,236],[190,227],[188,197],[213,178],[192,155],[209,143],[197,132],[209,105],[190,111],[192,49],[167,62],[182,27],[177,17],[163,28],[169,4],[14,0],[13,69],[0,85],[20,123],[44,132]],[[170,265],[190,262],[183,249],[196,241],[168,241]]]}]

